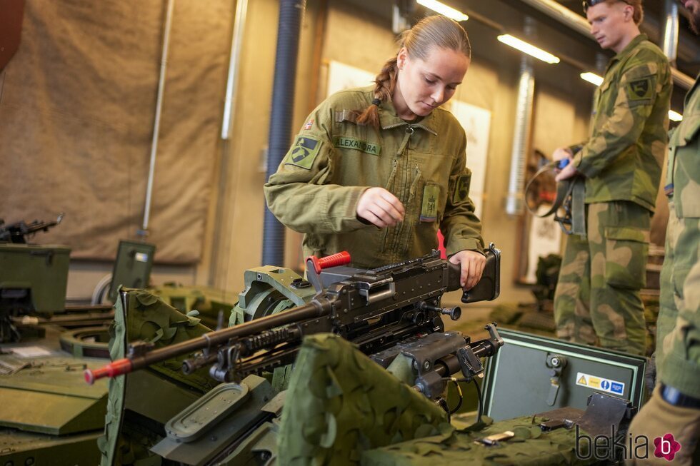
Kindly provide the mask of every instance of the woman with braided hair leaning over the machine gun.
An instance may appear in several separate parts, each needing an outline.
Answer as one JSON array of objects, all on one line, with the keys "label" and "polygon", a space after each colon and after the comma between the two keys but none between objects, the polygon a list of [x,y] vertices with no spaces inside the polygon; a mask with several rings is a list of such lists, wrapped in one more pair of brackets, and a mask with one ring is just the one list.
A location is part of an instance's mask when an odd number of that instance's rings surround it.
[{"label": "woman with braided hair leaning over the machine gun", "polygon": [[429,253],[440,228],[461,285],[481,278],[466,135],[438,108],[470,54],[459,24],[429,16],[402,34],[375,86],[336,93],[309,115],[264,188],[279,221],[305,233],[305,255],[348,250],[353,265],[374,268]]}]

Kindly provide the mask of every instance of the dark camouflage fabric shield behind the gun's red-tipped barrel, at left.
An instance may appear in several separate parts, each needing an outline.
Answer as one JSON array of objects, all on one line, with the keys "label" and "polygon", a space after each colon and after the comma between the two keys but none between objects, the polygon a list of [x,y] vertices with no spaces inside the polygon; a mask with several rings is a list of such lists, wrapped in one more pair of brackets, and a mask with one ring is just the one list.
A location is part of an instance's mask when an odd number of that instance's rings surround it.
[{"label": "dark camouflage fabric shield behind the gun's red-tipped barrel, at left", "polygon": [[[155,348],[163,348],[211,331],[201,325],[199,319],[184,315],[145,290],[128,291],[126,309],[122,308],[121,299],[118,299],[114,322],[109,329],[111,360],[126,357],[128,344],[134,340],[149,341],[154,343]],[[181,372],[182,359],[184,357],[164,361],[151,366],[151,370],[176,380],[200,395],[214,388],[216,381],[209,378],[206,368],[192,375],[184,375]],[[160,457],[149,451],[149,447],[161,440],[160,437],[138,422],[130,422],[124,417],[126,380],[134,375],[138,374],[109,380],[104,435],[98,439],[102,466],[161,464]],[[144,397],[152,397],[157,402],[170,402],[167,396],[159,397],[164,394],[159,394],[158,387],[152,388],[152,392],[144,393]]]}]

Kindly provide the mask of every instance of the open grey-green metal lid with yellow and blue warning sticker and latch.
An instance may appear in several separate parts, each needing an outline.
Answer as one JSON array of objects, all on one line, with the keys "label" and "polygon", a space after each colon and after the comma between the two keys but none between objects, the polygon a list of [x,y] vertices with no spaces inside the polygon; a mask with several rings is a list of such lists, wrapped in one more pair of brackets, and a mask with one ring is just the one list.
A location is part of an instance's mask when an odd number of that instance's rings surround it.
[{"label": "open grey-green metal lid with yellow and blue warning sticker and latch", "polygon": [[504,345],[486,365],[484,413],[511,419],[560,407],[585,410],[593,392],[645,400],[644,356],[499,328]]}]

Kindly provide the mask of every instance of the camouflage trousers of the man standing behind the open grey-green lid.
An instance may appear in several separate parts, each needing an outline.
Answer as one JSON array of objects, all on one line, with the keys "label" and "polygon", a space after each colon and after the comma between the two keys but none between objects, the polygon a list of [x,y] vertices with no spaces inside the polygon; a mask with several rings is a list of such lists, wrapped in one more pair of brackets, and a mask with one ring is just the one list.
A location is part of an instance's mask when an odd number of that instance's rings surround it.
[{"label": "camouflage trousers of the man standing behind the open grey-green lid", "polygon": [[554,294],[556,335],[643,355],[651,216],[629,201],[586,205],[586,237],[566,238]]}]

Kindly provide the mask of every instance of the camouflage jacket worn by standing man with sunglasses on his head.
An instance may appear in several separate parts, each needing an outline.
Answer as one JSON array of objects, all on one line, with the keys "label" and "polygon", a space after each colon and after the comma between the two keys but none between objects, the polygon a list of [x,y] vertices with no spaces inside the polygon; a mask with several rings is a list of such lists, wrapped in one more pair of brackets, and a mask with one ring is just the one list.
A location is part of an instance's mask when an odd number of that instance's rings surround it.
[{"label": "camouflage jacket worn by standing man with sunglasses on his head", "polygon": [[596,89],[591,136],[574,156],[586,203],[632,201],[654,211],[672,88],[669,61],[644,34],[611,59]]}]

